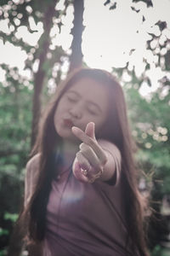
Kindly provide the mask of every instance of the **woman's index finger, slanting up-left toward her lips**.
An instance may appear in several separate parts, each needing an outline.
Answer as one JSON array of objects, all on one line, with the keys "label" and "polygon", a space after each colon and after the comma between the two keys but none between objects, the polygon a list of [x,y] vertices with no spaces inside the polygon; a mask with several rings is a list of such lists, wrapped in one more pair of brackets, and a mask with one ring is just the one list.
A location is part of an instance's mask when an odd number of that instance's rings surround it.
[{"label": "woman's index finger, slanting up-left toward her lips", "polygon": [[96,140],[94,140],[92,137],[89,137],[87,134],[85,134],[84,131],[82,131],[80,128],[76,126],[73,126],[71,128],[71,131],[78,139],[82,141],[82,143],[86,143],[88,146],[93,148],[95,154],[97,154],[101,163],[105,165],[106,156],[103,149],[99,146],[99,143]]}]

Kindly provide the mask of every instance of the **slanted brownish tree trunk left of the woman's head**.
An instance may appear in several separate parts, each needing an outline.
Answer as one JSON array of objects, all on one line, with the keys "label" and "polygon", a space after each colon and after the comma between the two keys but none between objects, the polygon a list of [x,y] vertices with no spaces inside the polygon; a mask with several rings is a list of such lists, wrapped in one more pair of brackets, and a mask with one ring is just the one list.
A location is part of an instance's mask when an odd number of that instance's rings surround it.
[{"label": "slanted brownish tree trunk left of the woman's head", "polygon": [[37,128],[41,114],[41,97],[42,97],[42,87],[45,78],[45,70],[43,69],[43,64],[46,60],[48,53],[48,47],[50,44],[49,32],[53,24],[53,16],[55,12],[56,1],[51,1],[48,5],[48,9],[44,14],[44,33],[42,35],[42,44],[40,45],[41,51],[39,55],[39,67],[37,73],[34,76],[34,95],[32,104],[32,125],[31,125],[31,147],[36,141]]}]

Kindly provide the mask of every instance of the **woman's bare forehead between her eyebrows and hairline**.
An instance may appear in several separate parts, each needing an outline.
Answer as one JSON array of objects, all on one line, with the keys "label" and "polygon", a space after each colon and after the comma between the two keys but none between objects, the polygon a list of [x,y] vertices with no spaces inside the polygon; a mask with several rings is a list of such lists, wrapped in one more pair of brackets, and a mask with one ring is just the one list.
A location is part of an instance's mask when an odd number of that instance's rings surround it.
[{"label": "woman's bare forehead between her eyebrows and hairline", "polygon": [[109,91],[107,85],[101,84],[94,79],[82,78],[71,85],[68,91],[76,91],[88,101],[108,102]]}]

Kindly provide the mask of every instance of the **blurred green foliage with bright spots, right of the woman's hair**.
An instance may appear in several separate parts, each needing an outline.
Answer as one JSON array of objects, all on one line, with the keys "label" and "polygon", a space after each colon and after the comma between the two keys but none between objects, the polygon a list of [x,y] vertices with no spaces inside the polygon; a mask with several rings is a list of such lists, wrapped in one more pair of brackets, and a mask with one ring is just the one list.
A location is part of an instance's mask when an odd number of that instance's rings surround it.
[{"label": "blurred green foliage with bright spots, right of the woman's hair", "polygon": [[133,137],[139,147],[137,159],[144,172],[154,170],[154,178],[161,180],[161,197],[169,194],[170,145],[169,106],[170,96],[159,99],[161,90],[152,94],[148,102],[139,95],[137,89],[127,90],[129,116],[133,128]]}]

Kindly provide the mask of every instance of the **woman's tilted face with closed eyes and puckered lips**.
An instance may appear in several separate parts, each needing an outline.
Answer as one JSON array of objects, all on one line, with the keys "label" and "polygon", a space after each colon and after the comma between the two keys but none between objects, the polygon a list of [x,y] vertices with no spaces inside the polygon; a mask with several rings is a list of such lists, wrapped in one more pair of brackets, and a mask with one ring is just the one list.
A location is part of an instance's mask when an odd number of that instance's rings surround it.
[{"label": "woman's tilted face with closed eyes and puckered lips", "polygon": [[54,113],[54,126],[60,137],[76,140],[71,127],[77,126],[84,131],[91,121],[96,132],[102,129],[109,114],[109,92],[104,85],[83,78],[65,91]]}]

